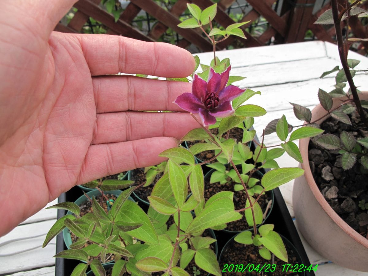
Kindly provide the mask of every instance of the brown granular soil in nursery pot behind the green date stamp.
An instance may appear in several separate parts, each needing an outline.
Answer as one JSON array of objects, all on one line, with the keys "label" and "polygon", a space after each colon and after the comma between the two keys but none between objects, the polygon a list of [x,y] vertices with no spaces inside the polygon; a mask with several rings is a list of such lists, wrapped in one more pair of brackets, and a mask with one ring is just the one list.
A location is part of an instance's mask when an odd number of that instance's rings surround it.
[{"label": "brown granular soil in nursery pot behind the green date stamp", "polygon": [[[294,250],[289,247],[288,244],[285,244],[286,247],[286,251],[287,251],[287,258],[288,258],[288,262],[292,265],[295,265],[297,263],[299,263],[297,261],[297,257],[296,257],[296,252],[294,252]],[[233,264],[234,266],[237,264],[243,264],[244,268],[245,266],[247,266],[247,264],[253,264],[254,267],[256,267],[257,265],[259,265],[259,269],[262,268],[263,264],[269,264],[269,265],[276,265],[276,269],[273,272],[263,272],[263,274],[259,274],[256,271],[251,271],[249,272],[249,270],[247,269],[247,271],[245,271],[244,273],[241,272],[234,272],[231,271],[227,271],[225,272],[226,267],[224,267],[225,264],[227,265],[231,265]],[[284,275],[302,275],[302,274],[298,274],[297,272],[283,272],[282,269],[282,265],[287,264],[286,262],[280,260],[279,258],[277,258],[275,256],[275,261],[272,262],[272,258],[271,260],[266,260],[263,259],[259,253],[258,253],[258,247],[254,246],[254,245],[245,245],[245,244],[240,244],[234,241],[231,241],[228,246],[224,249],[223,254],[221,256],[221,260],[220,260],[220,269],[223,270],[222,275],[223,276],[241,276],[241,275],[272,275],[272,276],[284,276]],[[269,266],[265,266],[265,268],[267,268]],[[268,269],[268,271],[270,271],[270,267]],[[226,269],[227,270],[227,269]],[[251,269],[252,270],[252,269]],[[265,270],[263,270],[265,271]]]}]

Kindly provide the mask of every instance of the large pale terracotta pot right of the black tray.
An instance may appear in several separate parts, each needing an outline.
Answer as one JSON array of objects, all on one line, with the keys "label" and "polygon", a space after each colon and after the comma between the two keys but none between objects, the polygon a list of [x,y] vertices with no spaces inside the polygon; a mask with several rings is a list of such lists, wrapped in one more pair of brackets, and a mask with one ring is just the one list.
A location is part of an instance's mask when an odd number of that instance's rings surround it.
[{"label": "large pale terracotta pot right of the black tray", "polygon": [[[367,100],[368,92],[360,94],[360,99]],[[333,107],[339,104],[339,99],[334,99]],[[312,121],[325,113],[321,105],[316,106],[312,110]],[[368,240],[344,222],[319,191],[309,167],[308,144],[309,138],[299,141],[304,161],[300,166],[305,173],[294,181],[293,189],[298,228],[305,240],[325,258],[346,268],[368,272]]]}]

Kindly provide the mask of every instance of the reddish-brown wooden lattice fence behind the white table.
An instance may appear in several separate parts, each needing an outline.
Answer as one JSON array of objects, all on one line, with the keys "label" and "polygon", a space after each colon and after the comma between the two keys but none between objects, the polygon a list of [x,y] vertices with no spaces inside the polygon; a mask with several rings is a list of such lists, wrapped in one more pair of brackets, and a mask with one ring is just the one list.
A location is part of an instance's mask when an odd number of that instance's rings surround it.
[{"label": "reddish-brown wooden lattice fence behind the white table", "polygon": [[[244,47],[263,46],[271,38],[275,39],[275,43],[291,43],[301,42],[304,40],[305,32],[310,29],[317,39],[333,42],[334,30],[333,26],[326,29],[325,26],[315,25],[314,22],[320,14],[329,8],[329,4],[322,7],[315,15],[312,14],[316,0],[289,0],[283,1],[281,7],[281,15],[278,15],[272,8],[275,0],[247,0],[252,7],[240,22],[251,21],[243,25],[243,31],[247,39],[231,36],[217,44],[218,49],[224,49],[234,40],[239,40]],[[341,0],[342,4],[344,0]],[[83,26],[88,21],[89,17],[101,22],[108,28],[108,34],[123,35],[130,38],[135,38],[145,41],[156,41],[160,36],[171,28],[177,32],[182,39],[177,42],[177,45],[183,48],[194,44],[202,51],[212,50],[210,42],[202,35],[199,29],[181,29],[177,27],[180,23],[178,17],[184,13],[187,8],[187,3],[197,4],[202,9],[213,4],[211,0],[178,0],[169,11],[155,3],[153,0],[131,0],[128,6],[121,13],[120,18],[115,22],[114,16],[100,7],[101,0],[79,0],[74,7],[78,9],[71,21],[65,26],[59,23],[55,30],[61,32],[82,31]],[[235,23],[233,19],[226,13],[227,8],[233,4],[235,0],[220,0],[217,5],[217,14],[215,21],[226,28],[226,26]],[[367,8],[368,1],[364,1],[361,7]],[[132,26],[132,21],[143,10],[159,21],[151,28],[148,33],[143,33]],[[259,36],[252,36],[246,31],[246,28],[253,21],[263,17],[268,21],[268,29]],[[367,28],[361,25],[360,20],[352,17],[349,21],[351,31],[357,37],[367,38]],[[367,48],[367,47],[365,47]]]}]

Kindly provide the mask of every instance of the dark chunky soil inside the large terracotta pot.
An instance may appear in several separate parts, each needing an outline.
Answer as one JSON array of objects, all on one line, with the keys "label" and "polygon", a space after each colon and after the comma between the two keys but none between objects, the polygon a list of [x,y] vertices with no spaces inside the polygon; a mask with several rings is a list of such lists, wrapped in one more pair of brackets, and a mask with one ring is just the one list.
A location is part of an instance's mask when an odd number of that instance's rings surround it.
[{"label": "dark chunky soil inside the large terracotta pot", "polygon": [[[353,125],[331,117],[321,124],[321,128],[325,134],[338,137],[342,131],[355,138],[368,137],[356,115],[353,113],[349,117]],[[359,207],[359,201],[368,202],[368,171],[358,161],[350,170],[344,171],[337,150],[321,148],[312,141],[309,142],[308,156],[314,180],[326,201],[348,225],[368,239],[368,212]]]}]

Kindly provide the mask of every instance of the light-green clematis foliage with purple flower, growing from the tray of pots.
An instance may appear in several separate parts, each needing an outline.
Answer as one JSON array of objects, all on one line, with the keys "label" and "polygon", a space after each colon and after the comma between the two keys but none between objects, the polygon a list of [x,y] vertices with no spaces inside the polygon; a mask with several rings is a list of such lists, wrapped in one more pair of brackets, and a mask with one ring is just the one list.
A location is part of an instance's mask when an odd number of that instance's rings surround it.
[{"label": "light-green clematis foliage with purple flower, growing from the tray of pots", "polygon": [[[125,271],[132,275],[149,275],[154,272],[163,275],[189,275],[185,268],[193,258],[199,268],[213,275],[221,275],[216,254],[209,248],[214,240],[201,235],[206,229],[223,229],[226,223],[237,221],[243,216],[252,226],[252,230],[238,236],[237,241],[256,245],[259,254],[265,259],[271,259],[272,254],[275,254],[287,261],[285,246],[279,234],[273,231],[273,225],[263,225],[261,229],[257,229],[257,224],[262,223],[263,217],[258,199],[266,191],[304,173],[299,168],[279,168],[275,159],[285,151],[293,157],[298,156],[298,149],[293,141],[315,136],[322,131],[304,127],[293,131],[288,139],[289,125],[283,116],[276,123],[276,132],[283,142],[282,147],[270,149],[262,141],[256,143],[254,150],[250,148],[248,142],[252,141],[256,134],[255,130],[251,130],[254,117],[264,115],[266,110],[258,105],[244,103],[261,92],[232,85],[232,82],[243,77],[230,76],[229,59],[220,61],[215,53],[216,43],[230,35],[245,38],[240,27],[247,22],[232,24],[226,29],[213,28],[211,21],[216,15],[216,8],[214,4],[202,11],[195,4],[188,4],[192,18],[179,24],[183,28],[199,27],[204,31],[213,44],[213,61],[209,66],[202,64],[203,72],[193,73],[191,78],[170,79],[186,82],[192,79],[192,93],[184,93],[175,103],[191,112],[193,119],[198,122],[198,128],[188,132],[180,142],[201,139],[207,142],[195,144],[190,149],[178,146],[160,154],[168,160],[150,168],[150,179],[161,170],[164,174],[148,197],[150,206],[147,213],[134,202],[127,200],[134,190],[144,188],[142,186],[145,183],[134,186],[132,181],[127,180],[98,183],[102,194],[104,191],[125,189],[107,213],[94,198],[91,199],[93,213],[88,216],[80,216],[79,206],[72,202],[52,206],[67,209],[75,216],[66,215],[57,220],[47,234],[43,246],[65,227],[72,231],[78,237],[72,244],[72,249],[59,252],[55,256],[85,262],[75,267],[73,275],[84,275],[88,266],[91,266],[95,275],[105,275],[98,257],[103,261],[107,253],[115,256],[112,275],[122,275]],[[209,33],[205,30],[207,24]],[[215,40],[215,36],[222,38]],[[195,60],[197,70],[198,56]],[[198,113],[200,120],[193,113]],[[217,135],[208,130],[210,124],[218,127]],[[229,131],[239,125],[245,125],[246,129],[243,140],[236,144],[234,139],[229,138]],[[236,189],[244,190],[244,208],[235,210],[233,191],[218,192],[208,200],[204,199],[204,175],[201,165],[209,161],[197,164],[194,155],[206,150],[215,150],[217,154],[214,158],[226,160],[231,167],[231,170],[224,171],[222,164],[212,164],[217,169],[215,173],[218,181],[221,182],[222,178],[230,176],[238,183]],[[234,160],[234,156],[237,160]],[[236,166],[237,164],[239,166]],[[273,170],[266,172],[259,184],[255,185],[252,176],[264,168]],[[222,173],[221,176],[219,172]],[[96,182],[89,186],[93,185],[96,185]],[[188,187],[192,193],[190,197]],[[191,212],[194,212],[194,217]],[[167,228],[166,222],[170,216],[174,216],[175,223]],[[87,241],[91,245],[84,247]]]}]

